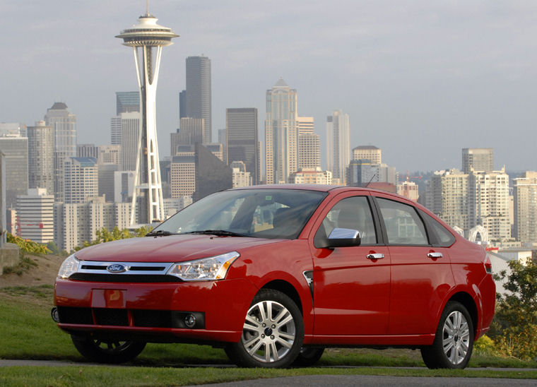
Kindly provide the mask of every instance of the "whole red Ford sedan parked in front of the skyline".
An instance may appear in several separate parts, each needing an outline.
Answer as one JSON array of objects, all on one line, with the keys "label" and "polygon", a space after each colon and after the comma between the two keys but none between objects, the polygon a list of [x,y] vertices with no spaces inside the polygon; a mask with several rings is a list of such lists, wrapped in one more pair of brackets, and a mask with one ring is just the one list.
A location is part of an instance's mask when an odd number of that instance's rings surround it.
[{"label": "whole red Ford sedan parked in front of the skyline", "polygon": [[207,196],[146,237],[69,256],[52,316],[97,362],[175,342],[223,347],[244,367],[373,346],[464,368],[494,315],[491,271],[481,246],[401,196],[254,186]]}]

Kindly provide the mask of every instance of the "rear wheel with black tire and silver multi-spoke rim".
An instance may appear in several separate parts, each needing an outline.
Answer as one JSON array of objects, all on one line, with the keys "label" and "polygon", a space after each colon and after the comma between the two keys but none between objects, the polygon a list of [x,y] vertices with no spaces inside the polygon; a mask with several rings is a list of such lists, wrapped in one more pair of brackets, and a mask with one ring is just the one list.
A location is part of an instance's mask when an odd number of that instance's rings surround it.
[{"label": "rear wheel with black tire and silver multi-spoke rim", "polygon": [[431,369],[464,369],[473,350],[473,322],[463,304],[447,303],[432,345],[421,349],[425,365]]}]

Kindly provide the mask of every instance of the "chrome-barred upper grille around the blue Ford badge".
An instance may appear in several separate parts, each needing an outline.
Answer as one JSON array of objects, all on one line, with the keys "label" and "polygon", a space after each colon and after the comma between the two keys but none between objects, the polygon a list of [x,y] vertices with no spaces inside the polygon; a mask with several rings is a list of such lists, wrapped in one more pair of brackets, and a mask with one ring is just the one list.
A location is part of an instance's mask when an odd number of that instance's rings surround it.
[{"label": "chrome-barred upper grille around the blue Ford badge", "polygon": [[[80,261],[77,274],[109,274],[109,275],[165,275],[174,262],[114,262],[114,261]],[[123,265],[122,273],[107,270],[110,265]]]}]

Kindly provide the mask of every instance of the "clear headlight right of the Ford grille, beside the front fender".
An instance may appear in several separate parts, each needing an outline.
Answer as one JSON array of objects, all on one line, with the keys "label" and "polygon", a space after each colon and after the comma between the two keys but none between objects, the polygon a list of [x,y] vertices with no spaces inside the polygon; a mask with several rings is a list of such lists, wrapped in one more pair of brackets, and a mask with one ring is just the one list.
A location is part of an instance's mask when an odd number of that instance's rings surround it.
[{"label": "clear headlight right of the Ford grille, beside the front fender", "polygon": [[223,280],[228,273],[228,268],[239,256],[240,254],[237,251],[231,251],[221,256],[175,263],[167,271],[167,274],[175,275],[184,281]]}]

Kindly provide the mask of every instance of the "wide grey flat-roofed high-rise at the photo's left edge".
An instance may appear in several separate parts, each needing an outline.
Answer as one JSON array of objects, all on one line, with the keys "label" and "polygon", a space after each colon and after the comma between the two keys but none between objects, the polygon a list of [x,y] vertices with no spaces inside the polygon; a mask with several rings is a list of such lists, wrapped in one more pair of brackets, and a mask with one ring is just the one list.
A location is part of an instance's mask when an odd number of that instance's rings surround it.
[{"label": "wide grey flat-roofed high-rise at the photo's left edge", "polygon": [[28,138],[0,137],[0,152],[6,163],[6,208],[15,208],[17,196],[28,192]]}]

